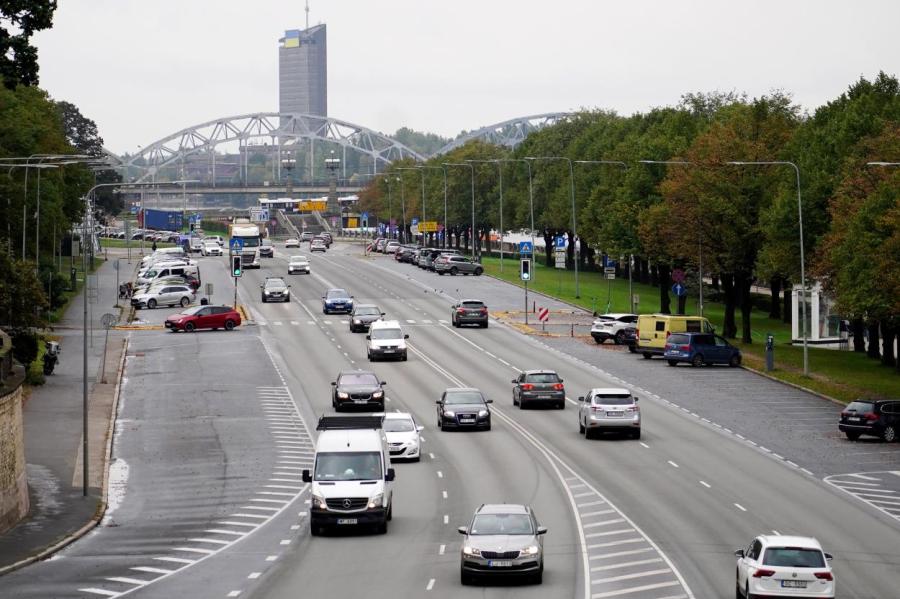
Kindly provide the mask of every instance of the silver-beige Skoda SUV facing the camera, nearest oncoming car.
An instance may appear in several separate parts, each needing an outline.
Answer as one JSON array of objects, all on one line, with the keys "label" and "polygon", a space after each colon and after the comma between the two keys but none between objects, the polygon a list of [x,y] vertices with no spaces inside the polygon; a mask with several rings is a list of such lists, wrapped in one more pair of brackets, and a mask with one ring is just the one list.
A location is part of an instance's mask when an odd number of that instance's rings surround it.
[{"label": "silver-beige Skoda SUV facing the camera, nearest oncoming car", "polygon": [[547,529],[538,525],[527,505],[485,504],[475,510],[460,553],[459,578],[470,584],[476,577],[523,576],[540,583],[544,577]]}]

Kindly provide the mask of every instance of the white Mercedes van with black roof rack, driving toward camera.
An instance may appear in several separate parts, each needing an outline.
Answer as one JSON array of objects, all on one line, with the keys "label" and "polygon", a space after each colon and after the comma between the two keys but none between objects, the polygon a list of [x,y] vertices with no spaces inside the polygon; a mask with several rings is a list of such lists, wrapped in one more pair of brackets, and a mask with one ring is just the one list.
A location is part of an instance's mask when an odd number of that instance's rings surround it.
[{"label": "white Mercedes van with black roof rack, driving toward camera", "polygon": [[374,525],[387,532],[393,517],[391,454],[380,416],[322,416],[310,483],[309,529]]}]

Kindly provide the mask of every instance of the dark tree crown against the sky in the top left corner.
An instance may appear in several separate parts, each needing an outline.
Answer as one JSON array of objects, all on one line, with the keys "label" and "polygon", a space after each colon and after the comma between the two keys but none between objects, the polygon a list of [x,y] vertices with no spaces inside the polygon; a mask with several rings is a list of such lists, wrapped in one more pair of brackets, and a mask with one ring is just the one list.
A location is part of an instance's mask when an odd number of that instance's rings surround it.
[{"label": "dark tree crown against the sky in the top left corner", "polygon": [[8,89],[37,85],[35,31],[53,24],[56,0],[0,0],[0,77]]}]

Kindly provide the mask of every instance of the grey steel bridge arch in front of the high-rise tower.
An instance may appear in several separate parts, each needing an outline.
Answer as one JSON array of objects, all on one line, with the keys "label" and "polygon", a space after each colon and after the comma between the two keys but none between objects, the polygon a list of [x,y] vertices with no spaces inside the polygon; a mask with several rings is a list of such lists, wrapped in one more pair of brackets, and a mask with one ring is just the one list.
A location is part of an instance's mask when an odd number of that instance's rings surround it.
[{"label": "grey steel bridge arch in front of the high-rise tower", "polygon": [[[315,142],[338,145],[344,154],[344,164],[349,149],[368,156],[373,172],[378,171],[379,164],[387,165],[403,158],[424,160],[424,156],[400,142],[354,123],[331,117],[277,112],[242,114],[207,121],[155,141],[125,160],[114,159],[120,167],[141,173],[138,180],[145,180],[155,177],[160,169],[183,163],[192,155],[206,155],[215,179],[217,146],[236,143],[247,147],[251,142],[259,143],[261,140],[266,140],[266,146],[271,145],[273,151],[276,148],[297,148],[303,140],[310,142],[311,152]],[[274,162],[277,166],[273,163],[273,168],[280,173],[280,160]]]}]

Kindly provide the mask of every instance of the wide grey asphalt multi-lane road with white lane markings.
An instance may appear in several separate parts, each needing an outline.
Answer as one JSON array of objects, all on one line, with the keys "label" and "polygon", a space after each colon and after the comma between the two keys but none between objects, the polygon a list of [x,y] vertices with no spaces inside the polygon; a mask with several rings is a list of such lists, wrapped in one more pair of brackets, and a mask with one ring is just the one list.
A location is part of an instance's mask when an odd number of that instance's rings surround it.
[{"label": "wide grey asphalt multi-lane road with white lane markings", "polygon": [[[301,252],[279,247],[261,270],[244,272],[240,302],[252,319],[239,330],[133,333],[115,509],[60,559],[0,579],[0,595],[712,599],[734,593],[733,551],[778,531],[815,536],[834,554],[839,597],[898,596],[900,510],[891,506],[900,500],[890,503],[889,491],[900,467],[877,468],[880,478],[842,470],[824,481],[835,470],[817,468],[803,447],[748,442],[766,438],[763,419],[741,421],[687,397],[695,387],[698,396],[748,406],[781,401],[779,385],[728,369],[661,370],[494,321],[487,330],[455,329],[454,300],[515,309],[520,292],[488,277],[439,278],[340,242],[310,256],[311,275],[288,278],[289,253]],[[216,301],[231,295],[225,260],[200,260]],[[284,276],[291,301],[261,303],[265,276]],[[322,314],[329,287],[399,320],[409,360],[370,364],[365,335],[350,333],[346,316]],[[140,315],[161,322],[169,312]],[[425,426],[423,458],[395,466],[387,535],[311,537],[300,470],[310,463],[318,416],[332,412],[330,382],[345,368],[374,370],[388,383],[387,409]],[[565,410],[512,406],[510,379],[531,368],[560,373]],[[685,401],[659,389],[663,376],[689,377],[677,387]],[[491,431],[437,430],[434,402],[453,386],[494,400]],[[585,440],[575,400],[592,387],[620,386],[640,398],[642,438]],[[896,459],[896,446],[872,447],[888,452],[886,464]],[[874,484],[853,476],[884,479],[878,488],[888,499],[873,505],[853,496]],[[488,502],[530,504],[549,528],[543,585],[460,585],[456,528]]]}]

